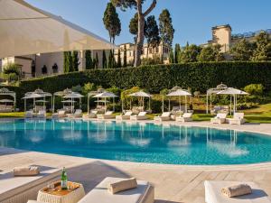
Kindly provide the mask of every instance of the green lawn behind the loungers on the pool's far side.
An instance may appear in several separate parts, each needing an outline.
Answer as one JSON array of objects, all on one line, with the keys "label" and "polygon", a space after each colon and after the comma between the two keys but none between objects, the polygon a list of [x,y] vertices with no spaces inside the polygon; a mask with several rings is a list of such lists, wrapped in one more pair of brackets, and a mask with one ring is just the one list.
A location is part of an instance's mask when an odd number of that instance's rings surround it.
[{"label": "green lawn behind the loungers on the pool's far side", "polygon": [[[245,117],[249,123],[257,123],[257,124],[271,124],[271,103],[258,106],[257,108],[248,109],[243,111],[245,113]],[[119,115],[119,113],[116,113],[115,115]],[[150,120],[154,119],[154,116],[159,114],[152,114],[147,115]],[[10,118],[10,117],[16,117],[16,118],[22,118],[24,116],[23,112],[13,112],[13,113],[0,113],[0,118]],[[50,113],[47,114],[47,116],[51,116]],[[194,114],[193,120],[194,121],[210,121],[210,118],[214,115],[210,114]]]}]

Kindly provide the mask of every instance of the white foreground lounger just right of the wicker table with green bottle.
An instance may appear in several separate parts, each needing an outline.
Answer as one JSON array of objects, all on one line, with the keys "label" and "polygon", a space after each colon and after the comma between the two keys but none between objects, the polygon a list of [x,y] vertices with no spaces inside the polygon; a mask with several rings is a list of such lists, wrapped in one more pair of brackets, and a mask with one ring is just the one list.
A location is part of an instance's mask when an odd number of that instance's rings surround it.
[{"label": "white foreground lounger just right of the wicker table with green bottle", "polygon": [[123,179],[107,177],[78,203],[154,203],[154,188],[143,180],[137,180],[135,189],[128,189],[115,195],[110,194],[107,185],[119,180]]}]

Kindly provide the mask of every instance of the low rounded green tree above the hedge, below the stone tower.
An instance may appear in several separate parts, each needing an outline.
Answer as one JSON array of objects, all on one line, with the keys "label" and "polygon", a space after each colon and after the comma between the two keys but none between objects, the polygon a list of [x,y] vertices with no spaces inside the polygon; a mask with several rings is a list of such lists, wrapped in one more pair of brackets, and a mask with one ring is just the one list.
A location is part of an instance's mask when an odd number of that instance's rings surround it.
[{"label": "low rounded green tree above the hedge, below the stone tower", "polygon": [[200,55],[198,56],[199,61],[221,61],[224,60],[223,54],[220,52],[220,44],[209,45],[203,47]]}]

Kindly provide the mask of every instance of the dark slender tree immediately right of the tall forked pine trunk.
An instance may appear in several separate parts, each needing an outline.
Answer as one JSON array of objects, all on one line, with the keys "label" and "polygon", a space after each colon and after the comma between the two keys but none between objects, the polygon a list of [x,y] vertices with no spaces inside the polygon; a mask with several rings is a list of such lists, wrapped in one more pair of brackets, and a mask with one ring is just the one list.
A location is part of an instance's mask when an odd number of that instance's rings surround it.
[{"label": "dark slender tree immediately right of the tall forked pine trunk", "polygon": [[160,36],[158,25],[155,21],[155,16],[151,15],[147,18],[145,23],[145,38],[147,42],[147,58],[149,54],[149,48],[155,48],[160,44]]}]

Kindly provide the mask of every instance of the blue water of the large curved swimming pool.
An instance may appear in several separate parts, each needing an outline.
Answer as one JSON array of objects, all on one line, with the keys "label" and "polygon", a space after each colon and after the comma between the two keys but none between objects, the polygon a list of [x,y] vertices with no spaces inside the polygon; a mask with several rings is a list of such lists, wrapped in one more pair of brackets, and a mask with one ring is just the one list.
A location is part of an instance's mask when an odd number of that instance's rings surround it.
[{"label": "blue water of the large curved swimming pool", "polygon": [[84,121],[0,124],[0,147],[166,164],[271,161],[271,136],[202,127]]}]

